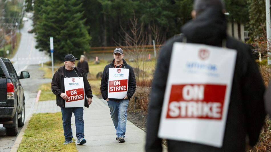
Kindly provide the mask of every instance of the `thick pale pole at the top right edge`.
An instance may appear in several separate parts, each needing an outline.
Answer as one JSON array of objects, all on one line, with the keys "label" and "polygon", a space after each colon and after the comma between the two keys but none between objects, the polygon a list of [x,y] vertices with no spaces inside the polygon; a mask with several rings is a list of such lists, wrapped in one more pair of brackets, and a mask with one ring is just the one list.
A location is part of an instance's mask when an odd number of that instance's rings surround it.
[{"label": "thick pale pole at the top right edge", "polygon": [[266,12],[266,40],[267,40],[267,63],[271,65],[271,50],[270,50],[270,40],[271,40],[271,27],[270,27],[270,0],[265,0],[265,12]]}]

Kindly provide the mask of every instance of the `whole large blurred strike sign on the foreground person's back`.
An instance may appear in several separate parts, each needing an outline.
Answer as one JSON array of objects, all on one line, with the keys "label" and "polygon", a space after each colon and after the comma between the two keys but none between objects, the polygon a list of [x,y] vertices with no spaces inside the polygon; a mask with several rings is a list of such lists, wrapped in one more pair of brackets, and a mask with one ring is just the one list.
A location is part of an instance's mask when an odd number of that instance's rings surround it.
[{"label": "whole large blurred strike sign on the foreground person's back", "polygon": [[222,147],[236,50],[173,45],[158,136]]}]

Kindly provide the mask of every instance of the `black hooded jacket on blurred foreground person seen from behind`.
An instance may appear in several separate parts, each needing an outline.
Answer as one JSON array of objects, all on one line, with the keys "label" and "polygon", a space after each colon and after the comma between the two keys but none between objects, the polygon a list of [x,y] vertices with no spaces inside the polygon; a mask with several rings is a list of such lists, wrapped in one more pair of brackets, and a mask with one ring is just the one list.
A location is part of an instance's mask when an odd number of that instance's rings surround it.
[{"label": "black hooded jacket on blurred foreground person seen from behind", "polygon": [[[251,146],[258,141],[265,118],[263,101],[265,87],[250,47],[226,36],[226,25],[225,16],[221,11],[208,9],[182,27],[188,43],[204,43],[221,47],[222,40],[226,39],[226,47],[237,50],[223,146],[217,148],[185,141],[168,140],[169,151],[245,151],[246,136],[248,136],[248,142]],[[157,132],[172,46],[174,42],[182,42],[182,40],[183,37],[170,39],[160,51],[149,101],[145,145],[147,152],[162,151],[161,139],[157,137]]]}]

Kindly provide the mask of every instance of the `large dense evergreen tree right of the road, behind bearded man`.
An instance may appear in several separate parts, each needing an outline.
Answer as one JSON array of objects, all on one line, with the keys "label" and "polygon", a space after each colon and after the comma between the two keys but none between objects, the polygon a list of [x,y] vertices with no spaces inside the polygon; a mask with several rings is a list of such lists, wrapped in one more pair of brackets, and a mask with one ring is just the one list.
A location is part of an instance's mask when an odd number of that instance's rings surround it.
[{"label": "large dense evergreen tree right of the road, behind bearded man", "polygon": [[76,57],[89,49],[90,37],[82,20],[82,4],[76,0],[50,0],[42,5],[36,24],[36,48],[50,52],[49,38],[54,38],[54,57],[63,60],[71,53]]}]

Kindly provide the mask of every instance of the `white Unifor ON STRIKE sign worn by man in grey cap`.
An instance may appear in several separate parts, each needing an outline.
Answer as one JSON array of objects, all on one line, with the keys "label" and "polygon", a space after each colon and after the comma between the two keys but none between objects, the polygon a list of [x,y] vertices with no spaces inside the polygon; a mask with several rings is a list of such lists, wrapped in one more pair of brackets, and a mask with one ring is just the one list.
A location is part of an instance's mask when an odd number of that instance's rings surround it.
[{"label": "white Unifor ON STRIKE sign worn by man in grey cap", "polygon": [[129,69],[109,68],[108,98],[123,99],[128,91]]}]

